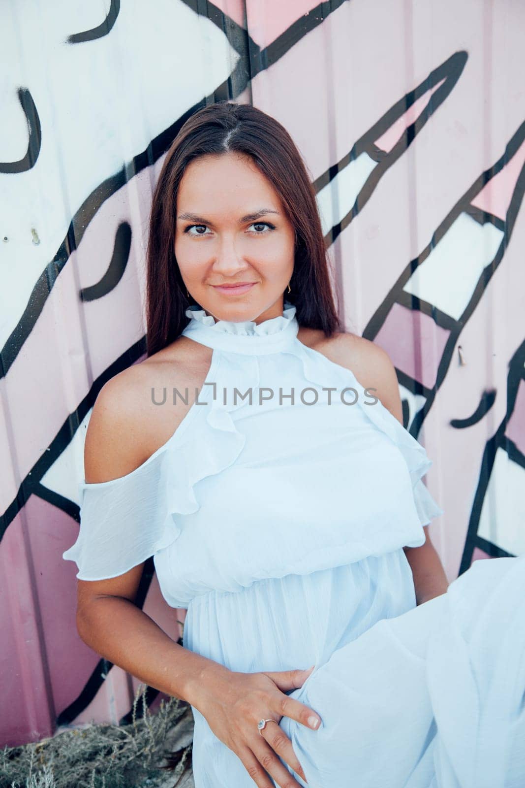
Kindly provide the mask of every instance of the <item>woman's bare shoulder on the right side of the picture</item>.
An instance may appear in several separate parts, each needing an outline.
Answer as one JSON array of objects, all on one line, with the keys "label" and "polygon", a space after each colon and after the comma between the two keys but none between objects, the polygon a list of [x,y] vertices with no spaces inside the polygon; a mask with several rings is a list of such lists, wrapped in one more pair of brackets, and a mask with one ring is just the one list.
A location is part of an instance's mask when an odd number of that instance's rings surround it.
[{"label": "woman's bare shoulder on the right side of the picture", "polygon": [[[314,334],[316,336],[314,336]],[[326,337],[319,331],[310,336],[305,335],[305,344],[313,350],[335,362],[339,366],[353,372],[363,388],[373,390],[375,396],[383,403],[384,407],[403,423],[403,411],[397,374],[388,353],[364,336],[348,332],[338,332],[334,336]]]}]

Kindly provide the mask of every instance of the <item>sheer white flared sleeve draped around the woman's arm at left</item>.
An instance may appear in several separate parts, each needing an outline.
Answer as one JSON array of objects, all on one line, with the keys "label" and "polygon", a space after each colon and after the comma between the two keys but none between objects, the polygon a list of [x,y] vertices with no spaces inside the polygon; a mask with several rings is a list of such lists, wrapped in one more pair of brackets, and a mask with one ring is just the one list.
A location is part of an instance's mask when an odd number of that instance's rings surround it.
[{"label": "sheer white flared sleeve draped around the woman's arm at left", "polygon": [[79,483],[79,533],[62,554],[75,561],[79,580],[115,578],[176,540],[167,485],[164,448],[124,477]]}]

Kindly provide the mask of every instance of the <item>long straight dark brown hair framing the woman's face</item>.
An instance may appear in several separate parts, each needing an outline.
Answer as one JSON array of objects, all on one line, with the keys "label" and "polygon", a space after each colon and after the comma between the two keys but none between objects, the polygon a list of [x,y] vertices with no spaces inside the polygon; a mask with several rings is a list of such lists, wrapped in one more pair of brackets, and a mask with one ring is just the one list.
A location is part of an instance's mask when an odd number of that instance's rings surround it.
[{"label": "long straight dark brown hair framing the woman's face", "polygon": [[250,104],[217,102],[194,113],[168,148],[153,192],[146,273],[147,355],[176,340],[189,322],[191,297],[176,261],[177,191],[190,162],[209,154],[250,156],[275,189],[296,233],[294,272],[285,299],[301,326],[332,336],[341,326],[331,292],[316,196],[287,130]]}]

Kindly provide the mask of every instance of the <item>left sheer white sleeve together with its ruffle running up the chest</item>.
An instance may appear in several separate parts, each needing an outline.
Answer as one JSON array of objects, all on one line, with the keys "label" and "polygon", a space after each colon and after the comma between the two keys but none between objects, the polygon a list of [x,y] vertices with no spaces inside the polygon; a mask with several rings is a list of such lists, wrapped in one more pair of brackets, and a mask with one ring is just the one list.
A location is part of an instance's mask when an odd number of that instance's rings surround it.
[{"label": "left sheer white sleeve together with its ruffle running up the chest", "polygon": [[[220,363],[214,355],[208,377]],[[248,370],[253,378],[254,362]],[[246,366],[238,370],[238,379]],[[199,394],[172,437],[145,463],[111,481],[79,483],[80,528],[62,558],[75,561],[79,580],[115,578],[150,556],[168,548],[183,532],[184,515],[198,511],[194,493],[198,481],[231,466],[245,438],[235,428],[231,412],[212,401],[209,386]],[[209,406],[209,407],[208,407]],[[191,427],[191,429],[189,429]],[[160,582],[160,578],[159,578]]]}]

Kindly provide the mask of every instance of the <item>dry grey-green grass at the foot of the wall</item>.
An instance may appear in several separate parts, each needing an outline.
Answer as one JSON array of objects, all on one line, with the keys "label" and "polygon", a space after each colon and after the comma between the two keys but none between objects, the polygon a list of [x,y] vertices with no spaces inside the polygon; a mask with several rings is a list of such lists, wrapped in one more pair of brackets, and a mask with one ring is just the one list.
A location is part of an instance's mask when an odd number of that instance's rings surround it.
[{"label": "dry grey-green grass at the foot of the wall", "polygon": [[[189,788],[193,781],[184,772],[193,736],[191,708],[170,698],[152,714],[145,693],[146,686],[139,686],[129,725],[87,725],[6,747],[0,751],[0,788]],[[168,756],[177,751],[182,760],[168,769]]]}]

